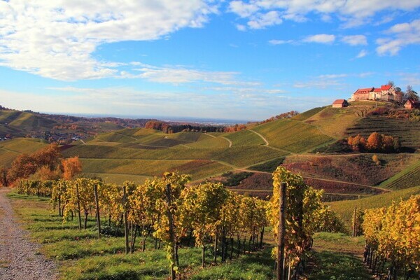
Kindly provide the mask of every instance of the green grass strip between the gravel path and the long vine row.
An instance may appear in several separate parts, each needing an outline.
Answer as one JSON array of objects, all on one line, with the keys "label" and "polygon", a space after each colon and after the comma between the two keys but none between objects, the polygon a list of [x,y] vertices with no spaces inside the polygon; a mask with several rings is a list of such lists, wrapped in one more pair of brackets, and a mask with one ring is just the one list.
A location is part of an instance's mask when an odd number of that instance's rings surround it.
[{"label": "green grass strip between the gravel path and the long vine row", "polygon": [[[125,255],[123,237],[103,235],[102,239],[97,239],[92,217],[89,229],[78,230],[76,218],[63,224],[61,218],[50,212],[46,198],[16,193],[8,196],[13,198],[13,207],[31,237],[43,244],[41,253],[57,261],[62,279],[167,279],[169,262],[165,249],[153,249],[151,237],[148,237],[145,252]],[[139,249],[141,239],[137,240]],[[209,248],[206,258],[207,262],[212,258]],[[221,275],[225,275],[224,279],[269,279],[272,275],[273,260],[269,249],[242,255],[219,265],[220,268],[208,265],[202,269],[201,249],[184,246],[179,250],[179,260],[181,272],[188,275],[188,279],[223,279]]]}]

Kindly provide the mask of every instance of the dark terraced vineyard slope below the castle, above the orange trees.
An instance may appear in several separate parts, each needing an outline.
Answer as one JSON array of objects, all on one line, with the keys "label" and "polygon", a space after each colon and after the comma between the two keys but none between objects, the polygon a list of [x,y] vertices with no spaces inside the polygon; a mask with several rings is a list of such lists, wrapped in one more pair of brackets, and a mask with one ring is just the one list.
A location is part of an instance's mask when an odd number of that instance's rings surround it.
[{"label": "dark terraced vineyard slope below the castle, above the orange trees", "polygon": [[405,119],[368,116],[346,130],[346,135],[360,134],[369,137],[372,132],[398,137],[402,147],[420,148],[420,123]]}]

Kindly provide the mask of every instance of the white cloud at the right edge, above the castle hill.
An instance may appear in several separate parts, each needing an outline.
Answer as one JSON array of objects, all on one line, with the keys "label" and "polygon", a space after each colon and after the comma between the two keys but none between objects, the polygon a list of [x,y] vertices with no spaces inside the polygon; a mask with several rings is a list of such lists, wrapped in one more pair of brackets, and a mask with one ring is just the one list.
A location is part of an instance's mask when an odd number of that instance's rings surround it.
[{"label": "white cloud at the right edge, above the castle hill", "polygon": [[406,45],[420,44],[420,20],[394,25],[386,34],[389,36],[377,39],[378,55],[397,55]]}]

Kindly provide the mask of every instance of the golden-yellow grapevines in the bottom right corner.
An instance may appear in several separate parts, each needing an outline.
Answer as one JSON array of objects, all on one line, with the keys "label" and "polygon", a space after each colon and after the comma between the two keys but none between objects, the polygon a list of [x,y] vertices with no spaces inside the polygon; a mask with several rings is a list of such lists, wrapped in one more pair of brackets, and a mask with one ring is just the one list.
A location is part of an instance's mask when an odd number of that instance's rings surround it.
[{"label": "golden-yellow grapevines in the bottom right corner", "polygon": [[365,211],[363,260],[377,276],[396,280],[420,276],[420,195]]}]

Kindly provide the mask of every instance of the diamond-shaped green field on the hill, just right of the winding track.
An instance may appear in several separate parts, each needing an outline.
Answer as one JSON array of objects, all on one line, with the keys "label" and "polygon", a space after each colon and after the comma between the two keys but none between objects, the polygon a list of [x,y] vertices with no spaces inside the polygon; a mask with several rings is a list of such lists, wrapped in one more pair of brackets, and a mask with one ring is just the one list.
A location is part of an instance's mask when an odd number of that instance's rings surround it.
[{"label": "diamond-shaped green field on the hill, just right of the winding track", "polygon": [[301,153],[332,141],[331,137],[323,134],[318,128],[297,120],[276,120],[258,125],[253,130],[262,134],[269,142],[269,146],[293,153]]}]

